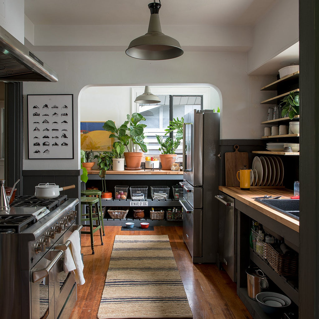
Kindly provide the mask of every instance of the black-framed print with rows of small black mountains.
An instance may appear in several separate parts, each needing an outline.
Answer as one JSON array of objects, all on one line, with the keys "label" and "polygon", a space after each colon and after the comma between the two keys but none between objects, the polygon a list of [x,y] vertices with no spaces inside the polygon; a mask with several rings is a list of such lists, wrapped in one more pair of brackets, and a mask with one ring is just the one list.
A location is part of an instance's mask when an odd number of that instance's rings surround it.
[{"label": "black-framed print with rows of small black mountains", "polygon": [[73,94],[27,95],[28,158],[73,159]]}]

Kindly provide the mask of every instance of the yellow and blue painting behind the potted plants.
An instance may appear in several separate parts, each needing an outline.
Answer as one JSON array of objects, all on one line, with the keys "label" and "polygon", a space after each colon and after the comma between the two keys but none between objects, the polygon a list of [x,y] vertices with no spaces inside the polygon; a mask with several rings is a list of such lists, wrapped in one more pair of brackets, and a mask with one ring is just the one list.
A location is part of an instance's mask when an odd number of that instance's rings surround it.
[{"label": "yellow and blue painting behind the potted plants", "polygon": [[83,151],[112,151],[114,138],[103,129],[105,122],[81,122],[81,149]]}]

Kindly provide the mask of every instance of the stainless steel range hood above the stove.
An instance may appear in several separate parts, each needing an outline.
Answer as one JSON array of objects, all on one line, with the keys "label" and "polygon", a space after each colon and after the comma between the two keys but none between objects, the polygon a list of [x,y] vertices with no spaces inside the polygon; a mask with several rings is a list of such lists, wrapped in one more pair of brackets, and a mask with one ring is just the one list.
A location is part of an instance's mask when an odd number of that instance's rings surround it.
[{"label": "stainless steel range hood above the stove", "polygon": [[0,26],[0,81],[51,81],[58,75]]}]

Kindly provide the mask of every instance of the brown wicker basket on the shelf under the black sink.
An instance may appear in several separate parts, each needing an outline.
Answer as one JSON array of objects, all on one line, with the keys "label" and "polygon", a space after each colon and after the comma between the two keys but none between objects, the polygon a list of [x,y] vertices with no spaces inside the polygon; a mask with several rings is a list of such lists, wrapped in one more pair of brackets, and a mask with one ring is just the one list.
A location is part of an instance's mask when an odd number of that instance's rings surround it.
[{"label": "brown wicker basket on the shelf under the black sink", "polygon": [[284,276],[298,275],[298,254],[293,256],[283,254],[278,244],[266,244],[266,257],[271,267]]}]

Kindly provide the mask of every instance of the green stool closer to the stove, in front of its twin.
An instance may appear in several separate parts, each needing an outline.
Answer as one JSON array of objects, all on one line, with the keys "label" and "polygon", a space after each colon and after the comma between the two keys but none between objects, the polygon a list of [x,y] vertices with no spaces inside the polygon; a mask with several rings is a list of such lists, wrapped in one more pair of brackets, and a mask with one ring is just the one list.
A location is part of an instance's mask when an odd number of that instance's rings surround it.
[{"label": "green stool closer to the stove, in front of its twin", "polygon": [[[84,221],[89,220],[90,221],[90,225],[87,224],[82,224],[83,227],[90,227],[90,231],[82,231],[82,234],[90,234],[91,235],[91,248],[92,248],[92,255],[94,255],[94,241],[93,241],[93,234],[100,229],[100,237],[101,237],[101,245],[103,245],[103,240],[102,240],[102,231],[101,231],[101,216],[99,214],[99,212],[97,213],[97,221],[98,221],[98,225],[95,226],[95,228],[93,229],[93,212],[92,212],[92,206],[95,204],[95,211],[97,211],[97,203],[99,202],[99,198],[97,197],[87,197],[87,196],[81,196],[81,224]],[[89,212],[86,213],[82,211],[82,206],[83,205],[88,205],[89,206]],[[88,216],[88,218],[87,218]]]}]

